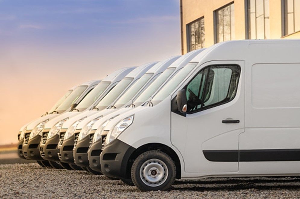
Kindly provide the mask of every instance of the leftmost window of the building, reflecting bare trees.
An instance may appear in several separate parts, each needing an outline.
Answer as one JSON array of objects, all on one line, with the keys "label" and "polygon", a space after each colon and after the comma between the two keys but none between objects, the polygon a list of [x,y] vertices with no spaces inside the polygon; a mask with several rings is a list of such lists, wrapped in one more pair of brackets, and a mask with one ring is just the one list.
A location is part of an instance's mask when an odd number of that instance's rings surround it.
[{"label": "leftmost window of the building, reflecting bare trees", "polygon": [[187,25],[188,51],[204,48],[204,17],[201,17]]}]

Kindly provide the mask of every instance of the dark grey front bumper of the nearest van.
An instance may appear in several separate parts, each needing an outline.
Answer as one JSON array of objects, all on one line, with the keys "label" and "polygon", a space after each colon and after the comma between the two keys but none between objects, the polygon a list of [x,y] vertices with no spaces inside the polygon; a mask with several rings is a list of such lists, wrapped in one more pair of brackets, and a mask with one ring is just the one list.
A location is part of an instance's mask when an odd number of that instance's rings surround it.
[{"label": "dark grey front bumper of the nearest van", "polygon": [[100,154],[101,172],[109,177],[127,178],[127,163],[135,148],[115,139]]}]

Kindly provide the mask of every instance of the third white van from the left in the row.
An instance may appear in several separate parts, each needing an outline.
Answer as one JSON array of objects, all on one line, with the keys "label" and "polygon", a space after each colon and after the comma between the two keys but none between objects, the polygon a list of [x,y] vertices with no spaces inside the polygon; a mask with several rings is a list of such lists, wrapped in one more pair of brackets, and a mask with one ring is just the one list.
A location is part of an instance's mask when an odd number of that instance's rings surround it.
[{"label": "third white van from the left in the row", "polygon": [[[77,103],[78,105],[75,104],[71,111],[61,114],[60,116],[55,117],[47,122],[42,130],[42,136],[39,140],[40,158],[47,161],[55,158],[58,159],[57,143],[59,140],[59,136],[57,135],[57,133],[62,128],[63,123],[80,114],[82,111],[94,107],[97,102],[99,102],[104,96],[106,96],[106,94],[109,93],[110,90],[112,90],[116,85],[118,85],[118,83],[132,70],[134,70],[134,67],[121,68],[107,75],[90,93],[88,93],[82,99],[82,101],[79,101]],[[46,145],[47,139],[51,140],[49,146]],[[44,149],[49,149],[49,151],[45,153]],[[61,165],[57,164],[55,161],[52,161],[51,163],[55,168],[61,167]]]}]

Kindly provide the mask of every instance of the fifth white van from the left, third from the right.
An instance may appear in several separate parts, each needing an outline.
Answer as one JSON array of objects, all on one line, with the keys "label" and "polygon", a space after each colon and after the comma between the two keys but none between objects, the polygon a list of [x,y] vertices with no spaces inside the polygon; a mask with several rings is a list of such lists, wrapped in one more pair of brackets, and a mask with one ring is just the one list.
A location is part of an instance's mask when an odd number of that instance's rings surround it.
[{"label": "fifth white van from the left, third from the right", "polygon": [[[158,62],[156,65],[151,67],[140,79],[138,79],[117,101],[115,101],[109,109],[104,109],[98,111],[96,114],[87,117],[81,123],[78,124],[76,131],[80,131],[77,140],[75,140],[73,148],[74,163],[80,167],[86,167],[91,173],[100,174],[98,171],[91,170],[89,167],[89,161],[87,159],[87,151],[90,146],[90,141],[92,141],[92,134],[90,130],[94,123],[103,123],[107,114],[123,113],[124,111],[130,109],[127,106],[134,106],[132,99],[140,96],[145,89],[149,88],[156,80],[161,79],[162,74],[168,76],[175,68],[169,68],[172,63],[176,62],[181,56],[173,56],[163,61]],[[169,69],[167,69],[169,68]],[[167,71],[166,71],[167,69]],[[166,71],[166,73],[164,73]],[[95,118],[102,116],[101,119],[95,121]],[[112,117],[111,116],[111,117]]]}]

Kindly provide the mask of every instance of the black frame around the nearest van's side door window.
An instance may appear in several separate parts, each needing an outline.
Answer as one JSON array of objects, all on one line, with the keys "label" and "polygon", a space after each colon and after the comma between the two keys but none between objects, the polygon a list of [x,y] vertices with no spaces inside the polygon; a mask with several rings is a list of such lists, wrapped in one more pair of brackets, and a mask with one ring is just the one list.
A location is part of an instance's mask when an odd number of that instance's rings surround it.
[{"label": "black frame around the nearest van's side door window", "polygon": [[[241,66],[238,65],[238,64],[221,64],[221,65],[220,65],[220,64],[212,64],[212,65],[207,65],[207,66],[201,68],[201,70],[199,70],[199,71],[191,78],[191,80],[189,80],[188,83],[185,84],[185,86],[183,87],[183,89],[185,89],[185,91],[187,92],[187,86],[188,86],[188,84],[189,84],[192,80],[194,80],[194,78],[195,78],[201,71],[205,70],[206,68],[210,68],[210,67],[214,67],[214,66],[237,66],[237,67],[238,67],[239,73],[238,73],[238,81],[237,81],[237,86],[236,86],[236,90],[237,90],[237,89],[238,89],[238,84],[239,84],[239,81],[240,81],[240,78],[241,78],[241,72],[242,72],[242,68],[241,68]],[[231,80],[232,80],[232,77],[230,77],[230,82],[231,82]],[[207,82],[208,82],[208,78],[205,80],[205,88],[206,88],[206,86],[207,86]],[[228,89],[230,89],[230,86],[229,86]],[[206,93],[206,91],[205,91],[205,93]],[[203,96],[205,96],[205,93],[203,94]],[[227,94],[228,94],[228,92],[227,92]],[[214,107],[217,107],[217,106],[220,106],[220,105],[223,105],[223,104],[227,104],[227,103],[231,102],[233,99],[235,99],[236,94],[237,94],[237,92],[235,92],[234,97],[233,97],[231,100],[229,100],[229,101],[225,101],[225,102],[217,102],[217,103],[215,103],[215,104],[208,105],[207,107],[201,107],[201,108],[196,109],[196,110],[193,110],[193,111],[191,111],[191,112],[188,112],[188,111],[187,111],[186,114],[193,114],[193,113],[201,112],[201,111],[204,111],[204,110],[207,110],[207,109],[210,109],[210,108],[214,108]]]}]

